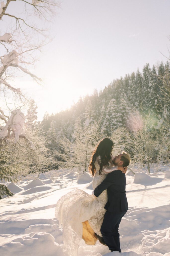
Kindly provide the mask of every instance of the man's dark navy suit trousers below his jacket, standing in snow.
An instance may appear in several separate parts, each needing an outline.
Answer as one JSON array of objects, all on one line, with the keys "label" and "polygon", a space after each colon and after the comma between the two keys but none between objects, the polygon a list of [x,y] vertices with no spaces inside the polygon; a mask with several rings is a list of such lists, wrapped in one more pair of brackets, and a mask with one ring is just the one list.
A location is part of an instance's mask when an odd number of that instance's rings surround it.
[{"label": "man's dark navy suit trousers below his jacket, standing in snow", "polygon": [[119,224],[122,217],[127,211],[113,213],[106,211],[104,214],[103,223],[101,225],[101,234],[103,236],[104,242],[109,247],[111,251],[119,251],[120,249],[120,239],[119,239]]}]

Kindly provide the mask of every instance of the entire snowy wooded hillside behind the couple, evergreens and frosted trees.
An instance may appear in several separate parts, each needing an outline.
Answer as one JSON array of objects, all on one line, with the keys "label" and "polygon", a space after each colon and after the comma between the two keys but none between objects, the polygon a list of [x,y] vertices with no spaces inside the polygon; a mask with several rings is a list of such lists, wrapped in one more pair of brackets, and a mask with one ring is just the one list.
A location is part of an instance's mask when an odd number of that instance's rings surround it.
[{"label": "entire snowy wooded hillside behind the couple, evergreens and frosted trees", "polygon": [[[113,80],[70,109],[44,115],[40,126],[55,168],[87,170],[96,143],[113,139],[114,152],[126,150],[132,163],[169,162],[170,62]],[[71,161],[69,160],[71,159]],[[87,164],[88,163],[88,164]]]}]

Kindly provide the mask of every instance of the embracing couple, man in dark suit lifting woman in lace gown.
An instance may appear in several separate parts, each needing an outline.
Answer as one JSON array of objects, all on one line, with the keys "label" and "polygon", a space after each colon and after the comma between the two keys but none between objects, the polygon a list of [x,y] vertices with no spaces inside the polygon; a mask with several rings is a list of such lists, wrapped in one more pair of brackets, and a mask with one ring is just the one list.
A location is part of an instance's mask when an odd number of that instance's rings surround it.
[{"label": "embracing couple, man in dark suit lifting woman in lace gown", "polygon": [[69,256],[77,256],[82,238],[86,244],[99,240],[109,250],[121,252],[118,229],[128,210],[125,173],[130,156],[124,151],[113,156],[112,150],[113,141],[104,138],[94,151],[89,165],[92,195],[75,188],[57,201],[55,216]]}]

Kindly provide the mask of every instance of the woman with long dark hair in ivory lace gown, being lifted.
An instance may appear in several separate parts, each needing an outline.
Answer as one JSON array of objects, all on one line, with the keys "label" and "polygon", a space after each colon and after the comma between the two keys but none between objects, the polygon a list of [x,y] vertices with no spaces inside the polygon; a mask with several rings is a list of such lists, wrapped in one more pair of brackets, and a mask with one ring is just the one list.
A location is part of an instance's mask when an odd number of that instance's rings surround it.
[{"label": "woman with long dark hair in ivory lace gown, being lifted", "polygon": [[[112,150],[113,141],[104,138],[92,155],[89,170],[94,176],[93,189],[106,178],[108,173],[117,170],[117,166],[114,167],[112,162],[114,159]],[[126,170],[127,167],[122,167],[121,171],[126,173]],[[107,201],[107,190],[104,190],[100,196],[94,197],[78,188],[71,190],[57,201],[55,217],[63,228],[64,250],[69,256],[77,256],[82,238],[90,245],[94,245],[97,238],[102,238],[100,228]]]}]

